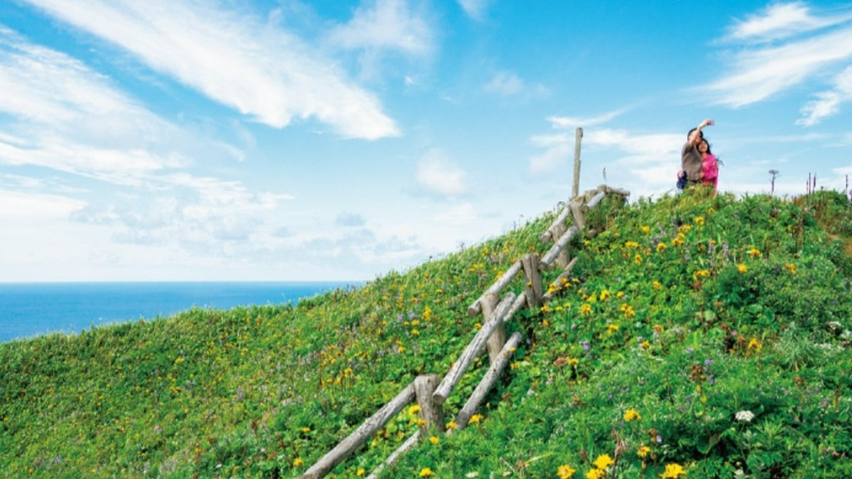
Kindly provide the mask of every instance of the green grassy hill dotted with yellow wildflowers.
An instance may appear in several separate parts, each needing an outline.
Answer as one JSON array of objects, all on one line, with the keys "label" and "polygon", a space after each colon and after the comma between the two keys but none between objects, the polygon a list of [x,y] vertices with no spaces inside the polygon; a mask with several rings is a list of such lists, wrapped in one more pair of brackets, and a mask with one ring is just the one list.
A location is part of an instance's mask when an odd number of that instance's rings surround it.
[{"label": "green grassy hill dotted with yellow wildflowers", "polygon": [[[0,477],[297,476],[449,369],[481,321],[469,304],[547,251],[554,216],[297,305],[0,344]],[[507,323],[525,341],[481,420],[383,476],[852,476],[849,199],[696,190],[588,221],[607,229],[575,241],[573,279]],[[369,474],[415,430],[400,413],[332,475]]]}]

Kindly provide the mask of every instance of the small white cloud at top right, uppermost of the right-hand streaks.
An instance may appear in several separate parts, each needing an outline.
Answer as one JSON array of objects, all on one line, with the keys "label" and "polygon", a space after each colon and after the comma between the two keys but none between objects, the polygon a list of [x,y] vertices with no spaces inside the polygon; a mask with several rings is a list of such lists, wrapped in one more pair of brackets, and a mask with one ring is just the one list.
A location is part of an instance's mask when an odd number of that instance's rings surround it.
[{"label": "small white cloud at top right, uppermost of the right-hand streaks", "polygon": [[817,18],[803,2],[772,3],[759,14],[737,21],[728,29],[728,39],[769,41],[837,25],[850,18],[849,14]]}]

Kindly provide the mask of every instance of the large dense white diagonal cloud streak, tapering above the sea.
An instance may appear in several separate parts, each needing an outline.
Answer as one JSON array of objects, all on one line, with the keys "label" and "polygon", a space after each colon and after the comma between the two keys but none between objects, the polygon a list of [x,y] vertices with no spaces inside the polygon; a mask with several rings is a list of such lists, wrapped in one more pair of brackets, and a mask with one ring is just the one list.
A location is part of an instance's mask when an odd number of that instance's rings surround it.
[{"label": "large dense white diagonal cloud streak, tapering above the sea", "polygon": [[294,117],[316,118],[343,136],[399,133],[377,98],[331,59],[216,0],[29,1],[264,124],[281,128]]}]

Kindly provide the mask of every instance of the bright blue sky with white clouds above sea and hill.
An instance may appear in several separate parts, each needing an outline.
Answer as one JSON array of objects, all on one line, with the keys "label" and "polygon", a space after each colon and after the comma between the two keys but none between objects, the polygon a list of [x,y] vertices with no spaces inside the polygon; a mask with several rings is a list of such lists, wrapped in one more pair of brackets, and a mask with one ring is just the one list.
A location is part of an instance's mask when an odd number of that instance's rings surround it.
[{"label": "bright blue sky with white clouds above sea and hill", "polygon": [[0,281],[369,280],[704,118],[723,191],[846,188],[852,4],[0,0]]}]

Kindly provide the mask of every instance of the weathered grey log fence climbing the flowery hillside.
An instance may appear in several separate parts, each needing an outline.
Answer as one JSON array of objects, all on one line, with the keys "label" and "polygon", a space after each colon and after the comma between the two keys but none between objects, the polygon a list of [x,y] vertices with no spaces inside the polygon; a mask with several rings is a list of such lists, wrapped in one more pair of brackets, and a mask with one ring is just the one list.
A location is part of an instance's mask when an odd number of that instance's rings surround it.
[{"label": "weathered grey log fence climbing the flowery hillside", "polygon": [[[579,133],[579,135],[582,135],[582,133]],[[561,274],[551,283],[551,287],[547,291],[559,291],[561,289],[562,281],[567,280],[574,263],[577,261],[576,258],[573,260],[570,258],[568,245],[575,236],[584,232],[586,212],[598,205],[607,194],[619,195],[624,198],[630,193],[623,189],[602,185],[582,195],[575,195],[573,200],[565,205],[556,216],[550,227],[540,235],[541,240],[553,242],[550,250],[545,252],[543,257],[530,253],[512,263],[509,269],[469,306],[468,315],[482,315],[482,326],[443,379],[436,374],[415,378],[394,399],[385,404],[370,418],[367,418],[358,429],[354,430],[343,441],[340,441],[336,447],[308,468],[302,476],[298,476],[298,479],[319,479],[328,474],[412,401],[417,401],[417,405],[420,407],[419,414],[420,418],[423,419],[423,425],[416,433],[406,439],[388,459],[385,459],[383,464],[373,470],[370,476],[367,476],[368,479],[376,479],[386,467],[393,465],[403,453],[417,444],[417,441],[426,437],[430,430],[437,433],[445,432],[444,401],[452,393],[473,361],[487,349],[491,366],[455,418],[457,429],[464,429],[468,425],[469,419],[480,407],[481,402],[485,400],[488,391],[497,382],[505,366],[509,364],[509,359],[515,349],[521,343],[520,332],[515,332],[507,340],[504,323],[523,308],[536,310],[550,301],[554,292],[544,292],[541,275],[543,270],[550,270],[555,267],[562,268]],[[567,226],[569,218],[573,219],[571,227]],[[585,230],[585,234],[588,236],[597,233],[595,230]],[[515,276],[521,274],[521,271],[527,279],[524,290],[519,294],[509,291],[500,299],[500,292],[515,279]],[[446,434],[452,434],[452,430],[447,430]]]}]

